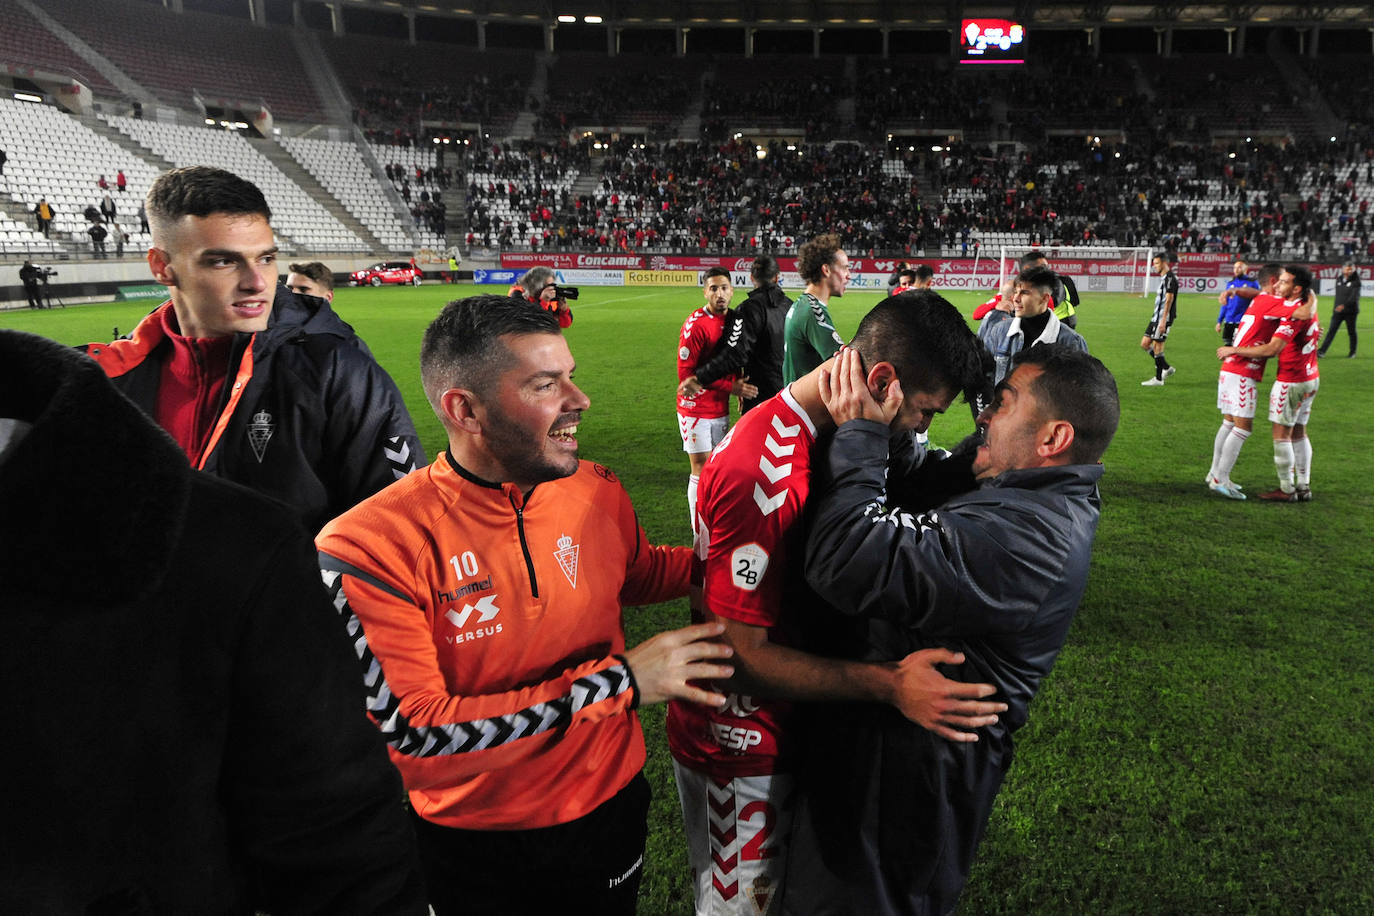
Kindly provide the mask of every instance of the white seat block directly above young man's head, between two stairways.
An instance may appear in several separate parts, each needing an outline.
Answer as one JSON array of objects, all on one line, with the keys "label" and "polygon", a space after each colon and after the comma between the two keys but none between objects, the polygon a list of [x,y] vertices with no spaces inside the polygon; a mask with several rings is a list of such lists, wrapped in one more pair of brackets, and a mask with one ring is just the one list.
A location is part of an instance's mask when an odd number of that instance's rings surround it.
[{"label": "white seat block directly above young man's head, between two stairways", "polygon": [[262,190],[272,207],[272,228],[306,251],[365,251],[368,246],[247,140],[214,128],[192,128],[158,121],[109,117],[110,126],[177,165],[216,165]]}]

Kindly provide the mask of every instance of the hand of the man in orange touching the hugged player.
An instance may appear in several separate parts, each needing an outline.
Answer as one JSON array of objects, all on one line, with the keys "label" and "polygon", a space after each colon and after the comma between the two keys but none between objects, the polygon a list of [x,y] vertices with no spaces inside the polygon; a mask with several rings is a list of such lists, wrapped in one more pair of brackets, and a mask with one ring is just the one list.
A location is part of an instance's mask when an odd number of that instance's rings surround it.
[{"label": "hand of the man in orange touching the hugged player", "polygon": [[625,663],[639,687],[639,705],[664,700],[688,700],[720,709],[724,694],[692,681],[723,681],[735,673],[732,665],[716,659],[734,655],[717,637],[725,632],[720,621],[695,623],[653,636],[635,648],[625,650]]}]

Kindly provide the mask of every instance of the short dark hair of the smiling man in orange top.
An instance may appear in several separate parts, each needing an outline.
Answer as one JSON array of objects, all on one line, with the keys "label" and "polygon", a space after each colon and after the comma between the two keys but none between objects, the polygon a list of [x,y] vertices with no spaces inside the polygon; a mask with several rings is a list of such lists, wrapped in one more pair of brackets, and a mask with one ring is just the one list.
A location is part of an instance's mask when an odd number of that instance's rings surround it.
[{"label": "short dark hair of the smiling man in orange top", "polygon": [[440,396],[449,389],[477,394],[510,363],[504,334],[559,334],[552,312],[510,295],[474,295],[453,299],[425,330],[420,342],[420,383],[430,407],[440,415]]}]

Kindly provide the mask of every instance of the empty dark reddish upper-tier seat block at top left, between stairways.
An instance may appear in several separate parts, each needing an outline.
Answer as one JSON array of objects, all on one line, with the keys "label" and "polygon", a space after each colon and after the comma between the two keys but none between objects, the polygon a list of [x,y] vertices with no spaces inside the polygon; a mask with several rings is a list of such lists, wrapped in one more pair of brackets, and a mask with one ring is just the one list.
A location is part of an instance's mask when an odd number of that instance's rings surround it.
[{"label": "empty dark reddish upper-tier seat block at top left, between stairways", "polygon": [[261,100],[283,121],[320,121],[323,106],[305,76],[289,29],[187,11],[169,15],[133,0],[43,0],[44,10],[133,80],[194,108]]}]

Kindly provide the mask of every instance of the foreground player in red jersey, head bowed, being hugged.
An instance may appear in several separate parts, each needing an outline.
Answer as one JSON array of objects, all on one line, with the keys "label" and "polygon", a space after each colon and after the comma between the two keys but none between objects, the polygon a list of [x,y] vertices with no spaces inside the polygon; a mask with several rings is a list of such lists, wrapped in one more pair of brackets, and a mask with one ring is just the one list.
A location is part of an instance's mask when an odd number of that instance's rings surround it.
[{"label": "foreground player in red jersey, head bowed, being hugged", "polygon": [[[894,433],[923,431],[958,391],[982,382],[977,339],[954,306],[930,291],[881,302],[860,321],[851,346],[867,367],[874,397],[901,398]],[[801,548],[796,522],[811,485],[811,449],[834,427],[820,400],[831,363],[741,417],[701,478],[692,617],[725,623],[736,672],[723,688],[724,709],[673,703],[668,713],[702,915],[765,912],[780,891],[793,791],[790,702],[889,703],[951,740],[976,740],[967,729],[991,724],[1004,709],[980,702],[989,687],[947,681],[936,672],[936,663],[962,658],[947,650],[871,663],[789,645],[789,628],[815,602],[789,567]]]}]

